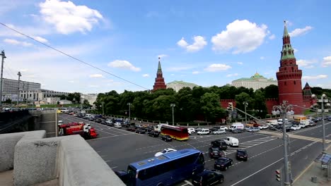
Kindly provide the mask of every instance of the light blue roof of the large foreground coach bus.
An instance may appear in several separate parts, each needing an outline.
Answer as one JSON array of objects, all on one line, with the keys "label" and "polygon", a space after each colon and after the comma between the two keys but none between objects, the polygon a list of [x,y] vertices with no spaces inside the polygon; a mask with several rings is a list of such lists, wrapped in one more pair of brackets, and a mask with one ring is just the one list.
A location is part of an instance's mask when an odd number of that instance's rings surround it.
[{"label": "light blue roof of the large foreground coach bus", "polygon": [[182,149],[182,150],[178,150],[178,151],[172,151],[167,154],[163,154],[161,156],[153,157],[150,159],[145,159],[142,161],[130,163],[129,166],[133,166],[134,168],[137,168],[137,171],[139,171],[141,169],[150,168],[152,166],[156,166],[161,163],[171,161],[173,159],[178,159],[182,156],[187,156],[187,155],[200,153],[200,152],[201,151],[198,151],[197,149]]}]

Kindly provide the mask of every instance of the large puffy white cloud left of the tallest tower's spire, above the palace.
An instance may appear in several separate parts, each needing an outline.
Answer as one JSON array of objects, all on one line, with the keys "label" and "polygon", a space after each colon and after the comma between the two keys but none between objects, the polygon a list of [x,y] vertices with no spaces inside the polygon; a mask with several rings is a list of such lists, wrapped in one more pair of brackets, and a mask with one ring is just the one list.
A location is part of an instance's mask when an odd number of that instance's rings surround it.
[{"label": "large puffy white cloud left of the tallest tower's spire, above the palace", "polygon": [[248,53],[263,43],[267,32],[267,25],[235,20],[226,26],[226,30],[211,38],[213,50],[232,51],[233,54]]}]

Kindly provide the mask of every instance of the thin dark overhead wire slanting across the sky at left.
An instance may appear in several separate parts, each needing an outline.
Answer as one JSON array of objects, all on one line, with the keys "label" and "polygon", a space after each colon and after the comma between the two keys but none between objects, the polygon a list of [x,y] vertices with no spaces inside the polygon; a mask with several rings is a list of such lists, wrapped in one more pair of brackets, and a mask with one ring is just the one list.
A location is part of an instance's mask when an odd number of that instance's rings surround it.
[{"label": "thin dark overhead wire slanting across the sky at left", "polygon": [[141,87],[141,88],[143,88],[143,89],[149,90],[148,88],[143,87],[143,86],[141,86],[141,85],[138,85],[137,83],[134,83],[134,82],[129,81],[129,80],[125,80],[124,78],[122,78],[122,77],[120,77],[120,76],[118,76],[118,75],[115,75],[115,74],[109,73],[108,71],[105,71],[105,70],[103,70],[103,69],[101,69],[101,68],[98,68],[98,67],[96,67],[96,66],[93,66],[93,65],[91,65],[90,63],[87,63],[87,62],[85,62],[85,61],[80,60],[79,58],[76,58],[76,57],[74,57],[74,56],[71,56],[70,54],[66,54],[64,51],[60,51],[59,49],[56,49],[56,48],[54,48],[53,46],[50,46],[49,44],[45,44],[45,43],[43,43],[43,42],[40,42],[40,41],[34,39],[33,37],[30,37],[30,36],[28,36],[28,35],[25,35],[23,32],[20,32],[20,31],[18,31],[18,30],[15,30],[15,29],[13,29],[12,27],[8,27],[8,26],[5,25],[4,23],[0,23],[0,24],[3,25],[4,27],[7,27],[7,28],[10,29],[10,30],[13,30],[14,32],[17,32],[17,33],[20,34],[20,35],[23,35],[23,36],[25,36],[25,37],[28,37],[29,39],[33,39],[35,42],[38,42],[38,43],[40,43],[40,44],[43,44],[43,45],[47,46],[48,48],[53,49],[54,51],[57,51],[57,52],[59,52],[59,53],[61,53],[61,54],[64,54],[65,56],[68,56],[69,58],[73,58],[73,59],[76,60],[76,61],[79,61],[79,62],[81,62],[81,63],[84,63],[84,64],[86,64],[87,66],[91,66],[92,68],[98,69],[98,70],[102,71],[103,73],[107,73],[107,74],[109,74],[109,75],[112,75],[112,76],[114,76],[114,77],[117,77],[117,78],[119,78],[120,80],[123,80],[123,81],[125,81],[125,82],[129,82],[129,83],[131,83],[132,85],[136,85],[137,87]]}]

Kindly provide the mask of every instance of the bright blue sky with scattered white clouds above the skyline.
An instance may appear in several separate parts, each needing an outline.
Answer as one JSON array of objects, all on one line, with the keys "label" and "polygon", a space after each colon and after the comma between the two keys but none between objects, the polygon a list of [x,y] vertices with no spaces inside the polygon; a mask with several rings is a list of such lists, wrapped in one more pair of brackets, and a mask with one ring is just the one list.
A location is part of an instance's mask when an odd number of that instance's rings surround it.
[{"label": "bright blue sky with scattered white clouds above the skyline", "polygon": [[62,92],[140,91],[153,89],[160,57],[165,83],[223,86],[255,73],[276,80],[286,20],[302,85],[330,89],[330,7],[327,0],[0,0],[4,77],[20,71],[21,80]]}]

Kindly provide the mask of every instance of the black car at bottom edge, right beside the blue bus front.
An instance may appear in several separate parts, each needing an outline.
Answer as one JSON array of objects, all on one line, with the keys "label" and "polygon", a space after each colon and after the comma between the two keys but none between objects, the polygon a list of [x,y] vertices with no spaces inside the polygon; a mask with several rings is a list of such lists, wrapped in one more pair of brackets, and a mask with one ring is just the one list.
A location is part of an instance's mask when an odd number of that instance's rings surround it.
[{"label": "black car at bottom edge, right beside the blue bus front", "polygon": [[218,185],[224,181],[224,175],[219,171],[205,169],[202,173],[193,175],[193,185]]}]

